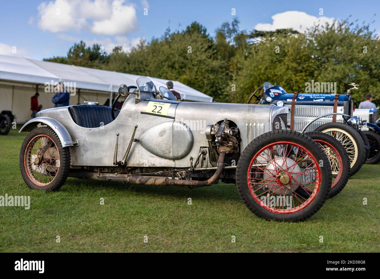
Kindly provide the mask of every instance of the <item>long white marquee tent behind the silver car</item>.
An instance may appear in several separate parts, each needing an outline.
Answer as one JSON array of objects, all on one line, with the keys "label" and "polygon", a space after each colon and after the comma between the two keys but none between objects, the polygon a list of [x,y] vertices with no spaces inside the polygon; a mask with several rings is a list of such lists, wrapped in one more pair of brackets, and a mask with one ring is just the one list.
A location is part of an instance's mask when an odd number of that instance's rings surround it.
[{"label": "long white marquee tent behind the silver car", "polygon": [[[115,97],[119,85],[135,85],[139,75],[104,71],[67,64],[37,61],[16,56],[0,55],[0,111],[10,110],[17,123],[31,117],[30,98],[38,92],[38,103],[43,109],[53,107],[54,92],[46,92],[45,83],[75,83],[76,92],[70,96],[70,105],[97,101],[103,105]],[[168,80],[150,78],[156,87],[166,86]],[[173,81],[174,89],[187,101],[212,102],[212,97],[183,83]]]}]

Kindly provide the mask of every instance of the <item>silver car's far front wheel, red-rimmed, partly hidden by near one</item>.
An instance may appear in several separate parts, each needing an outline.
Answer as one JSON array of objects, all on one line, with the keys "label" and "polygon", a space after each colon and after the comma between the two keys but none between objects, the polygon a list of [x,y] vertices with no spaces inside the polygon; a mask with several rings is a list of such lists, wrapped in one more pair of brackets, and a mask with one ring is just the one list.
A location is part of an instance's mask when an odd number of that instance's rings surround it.
[{"label": "silver car's far front wheel, red-rimmed, partly hidden by near one", "polygon": [[[350,178],[350,158],[348,157],[347,151],[336,138],[326,133],[313,131],[306,132],[305,135],[310,136],[310,138],[317,141],[318,144],[323,145],[323,142],[326,142],[331,145],[327,150],[330,154],[326,155],[330,160],[332,179],[334,180],[335,177],[335,180],[332,181],[329,197],[334,197],[343,190]],[[339,156],[340,158],[337,158],[336,156]],[[337,173],[338,170],[339,173]]]}]

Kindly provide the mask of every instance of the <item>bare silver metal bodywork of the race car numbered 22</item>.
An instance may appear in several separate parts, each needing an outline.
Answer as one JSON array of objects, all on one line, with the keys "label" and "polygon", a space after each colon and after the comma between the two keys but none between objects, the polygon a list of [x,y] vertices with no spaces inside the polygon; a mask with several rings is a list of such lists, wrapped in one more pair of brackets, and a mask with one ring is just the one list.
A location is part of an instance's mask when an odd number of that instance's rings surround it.
[{"label": "bare silver metal bodywork of the race car numbered 22", "polygon": [[[141,102],[136,104],[135,96],[130,94],[117,118],[98,128],[77,125],[71,118],[68,107],[43,110],[38,116],[60,122],[68,131],[72,141],[79,141],[78,146],[70,146],[72,166],[113,166],[116,133],[120,134],[117,154],[117,160],[120,161],[127,150],[135,125],[138,125],[134,138],[143,139],[142,144],[145,148],[139,141],[133,142],[126,166],[189,167],[190,157],[196,158],[200,148],[208,146],[204,130],[206,125],[214,125],[224,118],[235,122],[241,133],[240,147],[244,150],[254,138],[272,130],[272,121],[277,114],[288,113],[288,108],[273,105],[172,102],[167,115],[161,117],[146,114],[149,103],[146,99],[151,97],[151,94],[142,93]],[[168,121],[169,125],[161,124]],[[170,133],[170,123],[173,125],[172,133]],[[190,127],[190,130],[176,131],[178,126],[185,127],[182,123]],[[156,125],[161,125],[162,129],[157,129]],[[199,126],[194,127],[194,125]],[[168,134],[159,136],[161,130],[166,130]],[[143,136],[146,132],[147,134]],[[157,149],[161,148],[160,143],[162,143],[166,150],[154,150],[154,144],[148,147],[148,135],[151,141],[158,143]],[[181,158],[182,156],[184,157]]]}]

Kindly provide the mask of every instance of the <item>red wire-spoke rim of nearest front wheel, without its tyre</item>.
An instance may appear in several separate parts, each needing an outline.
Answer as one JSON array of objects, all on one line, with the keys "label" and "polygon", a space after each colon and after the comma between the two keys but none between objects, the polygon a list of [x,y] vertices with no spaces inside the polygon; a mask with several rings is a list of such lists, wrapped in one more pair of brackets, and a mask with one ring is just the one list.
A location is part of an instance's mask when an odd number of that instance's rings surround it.
[{"label": "red wire-spoke rim of nearest front wheel, without its tyre", "polygon": [[[247,183],[252,197],[267,210],[295,213],[307,207],[321,184],[320,166],[300,144],[280,141],[257,152],[250,162]],[[301,192],[309,193],[306,197]]]}]

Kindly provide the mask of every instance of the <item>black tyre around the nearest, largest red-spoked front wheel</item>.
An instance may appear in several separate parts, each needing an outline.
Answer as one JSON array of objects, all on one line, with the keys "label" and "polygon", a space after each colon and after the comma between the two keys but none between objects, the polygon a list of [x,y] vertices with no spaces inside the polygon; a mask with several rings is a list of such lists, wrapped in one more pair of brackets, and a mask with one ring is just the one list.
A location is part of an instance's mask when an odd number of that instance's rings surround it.
[{"label": "black tyre around the nearest, largest red-spoked front wheel", "polygon": [[[284,145],[281,142],[288,142],[288,143],[290,142],[290,143],[294,143],[296,145],[301,146],[304,150],[307,150],[307,152],[309,152],[310,154],[313,155],[313,157],[315,158],[315,162],[322,162],[323,161],[323,167],[318,167],[318,163],[316,164],[317,168],[320,170],[319,173],[321,175],[320,176],[321,179],[318,181],[319,188],[317,187],[318,189],[314,190],[315,193],[314,193],[313,198],[310,199],[309,201],[306,201],[308,203],[305,205],[305,207],[298,209],[298,211],[293,210],[293,212],[277,213],[276,210],[273,211],[270,209],[266,209],[264,207],[265,205],[262,206],[260,204],[260,202],[257,201],[253,197],[253,194],[251,194],[251,191],[253,190],[253,186],[251,187],[248,185],[247,175],[248,175],[249,179],[251,180],[250,174],[254,173],[254,172],[251,172],[251,169],[250,169],[251,162],[253,162],[253,159],[255,158],[255,156],[260,154],[261,150],[264,147],[271,145],[271,144],[279,143],[280,146],[282,146],[282,150],[285,150],[285,146],[286,146],[286,150],[287,150],[287,147],[290,144]],[[289,149],[294,150],[291,147],[289,147]],[[283,158],[290,158],[290,152],[287,153],[285,151],[284,154],[285,154],[285,156],[277,157],[277,158],[282,158],[282,159]],[[296,160],[298,160],[298,159],[296,159]],[[287,162],[287,164],[288,164],[288,162]],[[275,163],[274,165],[278,166],[279,164]],[[268,170],[268,166],[270,166],[269,163],[266,167],[267,170]],[[288,166],[285,166],[285,167],[287,167],[289,169]],[[282,168],[282,166],[281,166],[281,168]],[[275,176],[274,177],[278,177],[277,172],[279,172],[279,169],[275,170],[275,172],[274,172]],[[307,172],[307,173],[310,173],[310,172]],[[254,179],[257,179],[257,178],[253,178],[252,181],[254,181]],[[261,180],[259,183],[263,182],[263,180],[261,178],[259,178],[258,180]],[[239,192],[240,197],[241,197],[242,201],[244,202],[244,204],[256,216],[258,216],[260,218],[269,219],[269,220],[276,220],[276,221],[298,222],[298,221],[304,221],[307,218],[310,218],[312,215],[314,215],[322,207],[322,205],[325,203],[326,199],[328,198],[329,192],[331,189],[331,180],[332,180],[332,178],[331,178],[331,167],[329,164],[329,160],[328,160],[325,152],[323,152],[323,150],[319,146],[319,144],[317,144],[315,141],[313,141],[313,139],[311,139],[310,137],[308,137],[304,134],[301,134],[301,133],[296,132],[296,131],[290,131],[290,130],[275,130],[275,131],[271,131],[268,133],[264,133],[263,135],[260,135],[257,138],[255,138],[250,144],[248,144],[247,147],[245,147],[244,151],[242,152],[242,154],[239,158],[239,161],[238,161],[237,167],[236,167],[237,191]],[[250,182],[250,183],[253,184],[254,182]],[[259,184],[259,186],[260,185],[261,184]],[[282,184],[282,185],[277,184],[277,185],[280,185],[280,186],[284,185],[285,186],[285,184]],[[288,182],[287,185],[293,186],[293,181],[291,183]],[[265,190],[265,188],[264,188],[264,190]],[[285,189],[285,191],[287,191],[287,189]],[[292,197],[293,197],[294,192],[295,191],[290,189],[290,193],[291,193]],[[285,194],[284,194],[284,196],[285,196]],[[260,195],[260,193],[259,193],[259,195]],[[262,199],[260,201],[262,201]],[[296,209],[296,208],[294,208],[294,209]],[[286,214],[284,214],[284,213],[286,213]]]}]

